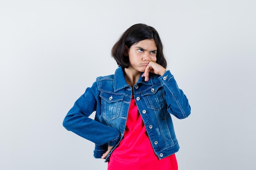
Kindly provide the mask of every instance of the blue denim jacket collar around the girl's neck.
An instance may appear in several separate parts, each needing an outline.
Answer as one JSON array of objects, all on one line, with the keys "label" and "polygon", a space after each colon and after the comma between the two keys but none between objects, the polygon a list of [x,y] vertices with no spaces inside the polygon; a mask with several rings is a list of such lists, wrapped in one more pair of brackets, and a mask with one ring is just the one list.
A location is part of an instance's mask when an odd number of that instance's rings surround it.
[{"label": "blue denim jacket collar around the girl's neck", "polygon": [[[143,73],[141,73],[142,75]],[[139,77],[139,80],[136,84],[138,83],[142,83],[142,84],[146,84],[146,85],[153,85],[153,79],[149,79],[148,82],[145,81],[144,77]],[[127,84],[125,78],[124,78],[124,70],[122,67],[119,66],[119,68],[117,68],[117,70],[115,71],[115,75],[114,75],[114,91],[117,92],[119,90],[121,90],[122,88],[126,88],[126,87],[130,87],[129,84]]]}]

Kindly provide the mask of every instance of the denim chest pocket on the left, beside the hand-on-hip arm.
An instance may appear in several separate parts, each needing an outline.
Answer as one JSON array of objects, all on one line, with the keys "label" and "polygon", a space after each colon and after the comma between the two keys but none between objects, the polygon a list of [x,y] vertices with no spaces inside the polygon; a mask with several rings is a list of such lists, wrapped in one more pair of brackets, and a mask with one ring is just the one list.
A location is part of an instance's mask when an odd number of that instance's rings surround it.
[{"label": "denim chest pocket on the left, beside the hand-on-hip arm", "polygon": [[101,116],[107,121],[119,117],[124,95],[101,92]]}]

